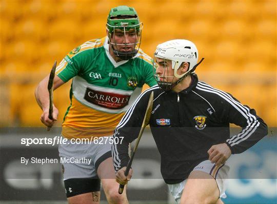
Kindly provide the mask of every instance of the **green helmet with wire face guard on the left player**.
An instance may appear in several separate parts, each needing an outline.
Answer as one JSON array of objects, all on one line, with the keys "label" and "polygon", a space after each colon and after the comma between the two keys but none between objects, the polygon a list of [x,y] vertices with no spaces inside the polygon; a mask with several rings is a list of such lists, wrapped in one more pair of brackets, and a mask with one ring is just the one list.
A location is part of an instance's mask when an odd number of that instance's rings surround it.
[{"label": "green helmet with wire face guard on the left player", "polygon": [[[128,60],[137,54],[138,49],[141,45],[143,23],[140,23],[140,19],[138,18],[138,15],[134,8],[128,6],[117,6],[115,8],[112,8],[108,15],[106,27],[108,30],[109,43],[112,45],[113,52],[116,56],[123,60]],[[114,43],[112,43],[111,38],[114,37],[113,33],[116,29],[120,29],[124,32],[124,42],[126,42],[126,32],[129,32],[130,30],[134,31],[137,36],[137,38],[135,39],[135,43],[117,44],[115,40],[113,40]],[[122,52],[119,51],[117,48],[117,46],[127,45],[133,46],[133,50],[130,52]]]}]

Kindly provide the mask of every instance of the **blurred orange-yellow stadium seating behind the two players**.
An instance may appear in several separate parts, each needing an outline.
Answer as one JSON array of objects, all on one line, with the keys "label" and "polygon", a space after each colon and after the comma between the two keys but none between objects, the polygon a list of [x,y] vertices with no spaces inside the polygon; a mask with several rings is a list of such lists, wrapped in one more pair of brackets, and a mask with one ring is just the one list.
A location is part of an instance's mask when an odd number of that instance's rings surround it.
[{"label": "blurred orange-yellow stadium seating behind the two players", "polygon": [[[141,48],[148,55],[166,40],[191,40],[205,57],[196,69],[200,79],[232,93],[276,127],[276,1],[1,0],[2,128],[43,127],[37,83],[54,60],[105,36],[108,12],[118,5],[138,12],[144,23]],[[67,83],[54,92],[57,127],[70,103],[69,88]]]}]

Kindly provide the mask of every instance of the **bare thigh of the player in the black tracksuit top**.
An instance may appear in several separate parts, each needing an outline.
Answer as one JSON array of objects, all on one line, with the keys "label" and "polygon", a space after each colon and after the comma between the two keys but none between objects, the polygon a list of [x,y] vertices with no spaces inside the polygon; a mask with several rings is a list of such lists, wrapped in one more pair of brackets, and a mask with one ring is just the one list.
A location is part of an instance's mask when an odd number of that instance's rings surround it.
[{"label": "bare thigh of the player in the black tracksuit top", "polygon": [[181,204],[221,204],[215,179],[208,173],[192,171],[181,196]]}]

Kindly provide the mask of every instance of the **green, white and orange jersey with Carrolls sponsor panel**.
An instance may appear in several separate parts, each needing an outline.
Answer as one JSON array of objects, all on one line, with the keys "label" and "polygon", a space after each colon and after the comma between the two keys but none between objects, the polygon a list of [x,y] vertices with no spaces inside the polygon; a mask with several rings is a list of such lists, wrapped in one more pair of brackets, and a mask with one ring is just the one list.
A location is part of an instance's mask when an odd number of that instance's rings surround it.
[{"label": "green, white and orange jersey with Carrolls sponsor panel", "polygon": [[58,65],[56,74],[65,82],[73,78],[71,105],[62,125],[62,134],[68,138],[112,134],[142,86],[156,85],[148,55],[139,50],[135,57],[116,63],[107,37],[73,49]]}]

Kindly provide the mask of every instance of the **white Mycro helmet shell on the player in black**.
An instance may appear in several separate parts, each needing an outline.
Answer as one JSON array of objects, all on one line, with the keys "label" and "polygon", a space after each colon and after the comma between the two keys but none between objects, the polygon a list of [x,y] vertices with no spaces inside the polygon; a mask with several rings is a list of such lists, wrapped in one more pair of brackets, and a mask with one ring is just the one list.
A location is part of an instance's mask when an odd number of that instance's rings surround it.
[{"label": "white Mycro helmet shell on the player in black", "polygon": [[[194,43],[186,39],[173,39],[157,46],[155,57],[169,59],[172,62],[172,69],[174,69],[174,76],[181,78],[188,73],[198,61],[198,50]],[[177,74],[177,69],[181,64],[189,63],[189,69],[182,75]]]}]

